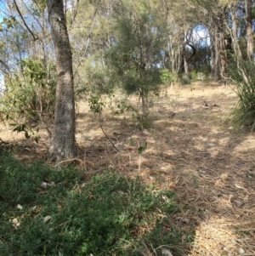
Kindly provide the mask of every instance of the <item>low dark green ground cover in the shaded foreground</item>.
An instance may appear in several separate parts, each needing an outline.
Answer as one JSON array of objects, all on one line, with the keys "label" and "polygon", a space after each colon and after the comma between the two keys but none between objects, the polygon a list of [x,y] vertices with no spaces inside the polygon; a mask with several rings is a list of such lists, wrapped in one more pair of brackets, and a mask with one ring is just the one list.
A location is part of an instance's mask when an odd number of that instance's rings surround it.
[{"label": "low dark green ground cover in the shaded foreground", "polygon": [[0,157],[1,255],[134,256],[142,255],[144,243],[173,247],[184,236],[169,227],[177,210],[171,191],[115,172],[80,187],[74,168],[56,171],[3,152]]}]

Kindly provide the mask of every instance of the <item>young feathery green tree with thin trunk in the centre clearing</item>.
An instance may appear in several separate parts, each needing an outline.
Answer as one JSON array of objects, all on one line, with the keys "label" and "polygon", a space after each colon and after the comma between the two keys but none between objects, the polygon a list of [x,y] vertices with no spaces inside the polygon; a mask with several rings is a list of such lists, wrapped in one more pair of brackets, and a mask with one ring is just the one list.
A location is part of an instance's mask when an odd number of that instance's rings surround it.
[{"label": "young feathery green tree with thin trunk in the centre clearing", "polygon": [[161,37],[159,30],[148,29],[155,24],[144,5],[128,2],[118,6],[115,43],[105,51],[105,63],[115,82],[127,94],[138,94],[142,99],[143,116],[148,110],[144,99],[151,93],[158,94],[161,84],[161,73],[155,65]]}]

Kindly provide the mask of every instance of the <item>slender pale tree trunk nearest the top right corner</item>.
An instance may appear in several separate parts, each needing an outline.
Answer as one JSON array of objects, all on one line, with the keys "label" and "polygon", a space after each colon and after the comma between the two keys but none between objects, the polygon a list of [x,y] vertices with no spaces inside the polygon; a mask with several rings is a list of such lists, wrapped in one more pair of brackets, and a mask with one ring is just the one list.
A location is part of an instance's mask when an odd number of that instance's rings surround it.
[{"label": "slender pale tree trunk nearest the top right corner", "polygon": [[252,37],[252,0],[245,0],[246,9],[246,40],[247,40],[247,57],[253,60],[253,37]]}]

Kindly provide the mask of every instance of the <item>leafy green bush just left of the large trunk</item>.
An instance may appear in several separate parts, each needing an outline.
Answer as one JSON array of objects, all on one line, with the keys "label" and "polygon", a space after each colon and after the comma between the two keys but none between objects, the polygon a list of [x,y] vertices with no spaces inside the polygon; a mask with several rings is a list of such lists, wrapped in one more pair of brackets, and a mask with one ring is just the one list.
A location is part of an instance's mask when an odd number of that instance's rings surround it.
[{"label": "leafy green bush just left of the large trunk", "polygon": [[[22,72],[6,79],[1,103],[8,119],[17,122],[14,130],[26,133],[38,123],[53,120],[55,67],[49,65],[47,70],[41,61],[26,59],[21,61],[21,70]],[[22,119],[24,121],[20,121]],[[23,123],[26,129],[22,126]]]}]

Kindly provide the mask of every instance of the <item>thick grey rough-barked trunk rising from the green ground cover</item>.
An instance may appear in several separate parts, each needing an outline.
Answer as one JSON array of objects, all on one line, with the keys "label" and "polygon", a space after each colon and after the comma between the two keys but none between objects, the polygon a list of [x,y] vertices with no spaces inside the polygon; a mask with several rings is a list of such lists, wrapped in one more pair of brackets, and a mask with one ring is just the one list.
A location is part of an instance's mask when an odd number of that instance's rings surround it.
[{"label": "thick grey rough-barked trunk rising from the green ground cover", "polygon": [[54,131],[49,154],[50,159],[59,162],[76,155],[72,57],[63,0],[47,0],[47,7],[57,67]]}]

